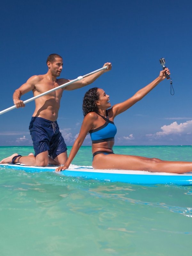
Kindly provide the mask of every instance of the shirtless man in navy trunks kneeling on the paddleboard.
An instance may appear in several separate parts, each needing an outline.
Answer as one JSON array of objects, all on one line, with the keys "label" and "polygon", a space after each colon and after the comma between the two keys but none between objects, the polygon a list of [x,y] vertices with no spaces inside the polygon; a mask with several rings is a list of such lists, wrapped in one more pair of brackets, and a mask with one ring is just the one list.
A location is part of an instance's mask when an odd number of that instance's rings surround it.
[{"label": "shirtless man in navy trunks kneeling on the paddleboard", "polygon": [[[111,70],[111,63],[104,64],[104,66],[107,65],[107,69],[36,99],[35,112],[29,125],[35,156],[32,153],[29,156],[13,154],[1,160],[0,163],[22,163],[33,166],[46,166],[48,163],[54,165],[65,164],[68,158],[67,147],[56,121],[62,93],[64,90],[72,91],[93,83],[103,73]],[[36,96],[71,81],[64,78],[57,79],[63,68],[63,60],[60,55],[49,55],[47,66],[48,72],[45,75],[30,77],[25,84],[13,93],[13,102],[16,108],[25,107],[20,97],[29,91],[33,91],[34,96]]]}]

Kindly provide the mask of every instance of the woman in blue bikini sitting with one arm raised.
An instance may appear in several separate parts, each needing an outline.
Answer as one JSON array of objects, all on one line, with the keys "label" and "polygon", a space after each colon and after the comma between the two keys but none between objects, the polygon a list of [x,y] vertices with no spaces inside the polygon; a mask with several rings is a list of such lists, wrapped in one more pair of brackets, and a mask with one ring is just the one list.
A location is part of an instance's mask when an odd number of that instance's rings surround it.
[{"label": "woman in blue bikini sitting with one arm raised", "polygon": [[149,172],[191,172],[192,162],[172,162],[163,161],[157,158],[147,158],[142,156],[117,155],[113,153],[114,137],[116,126],[114,118],[132,107],[141,100],[153,88],[156,87],[166,76],[170,75],[169,69],[162,70],[159,76],[150,84],[140,89],[130,99],[111,107],[109,95],[100,88],[92,88],[85,93],[83,99],[84,120],[78,138],[76,139],[68,160],[64,166],[60,166],[56,171],[66,170],[71,164],[81,147],[87,133],[92,139],[92,166],[94,169],[123,169],[142,170]]}]

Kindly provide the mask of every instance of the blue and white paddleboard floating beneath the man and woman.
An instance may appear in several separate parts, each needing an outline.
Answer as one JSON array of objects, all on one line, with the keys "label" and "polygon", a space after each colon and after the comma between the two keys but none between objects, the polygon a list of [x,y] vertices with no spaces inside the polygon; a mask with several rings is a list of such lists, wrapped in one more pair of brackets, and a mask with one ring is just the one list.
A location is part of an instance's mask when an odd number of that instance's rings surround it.
[{"label": "blue and white paddleboard floating beneath the man and woman", "polygon": [[[0,164],[0,168],[9,168],[25,172],[55,172],[56,166],[26,166],[23,164]],[[94,170],[92,166],[71,164],[69,169],[57,172],[59,175],[84,179],[124,182],[130,184],[176,184],[192,186],[192,172],[176,174],[165,172],[145,172],[131,170]]]}]

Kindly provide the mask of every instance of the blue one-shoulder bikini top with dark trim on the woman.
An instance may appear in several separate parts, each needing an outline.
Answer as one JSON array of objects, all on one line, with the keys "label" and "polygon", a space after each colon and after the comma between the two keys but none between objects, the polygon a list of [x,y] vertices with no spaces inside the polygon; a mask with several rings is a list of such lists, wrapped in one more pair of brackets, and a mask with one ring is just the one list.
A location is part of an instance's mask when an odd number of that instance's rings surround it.
[{"label": "blue one-shoulder bikini top with dark trim on the woman", "polygon": [[[101,116],[100,114],[98,114]],[[106,110],[106,116],[108,117],[108,112]],[[90,130],[90,136],[92,143],[100,143],[105,141],[114,140],[114,137],[117,132],[117,128],[114,122],[110,121],[108,118],[101,116],[105,120],[105,124],[98,127],[97,129]]]}]

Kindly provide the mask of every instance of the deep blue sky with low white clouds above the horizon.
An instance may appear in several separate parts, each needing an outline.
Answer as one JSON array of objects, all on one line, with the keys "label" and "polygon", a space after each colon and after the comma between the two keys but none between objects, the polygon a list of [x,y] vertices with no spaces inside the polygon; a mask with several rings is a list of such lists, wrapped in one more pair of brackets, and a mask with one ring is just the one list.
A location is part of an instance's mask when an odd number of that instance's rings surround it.
[{"label": "deep blue sky with low white clouds above the horizon", "polygon": [[[82,99],[91,87],[110,95],[112,105],[150,83],[165,58],[164,80],[143,100],[115,119],[115,145],[191,145],[191,1],[8,1],[1,4],[0,110],[13,105],[15,89],[47,72],[51,53],[63,57],[60,77],[75,79],[105,62],[112,71],[93,84],[64,92],[58,124],[68,146],[82,124]],[[32,92],[22,100],[33,97]],[[32,146],[28,125],[34,101],[0,116],[0,146]],[[89,137],[84,145],[91,145]]]}]

